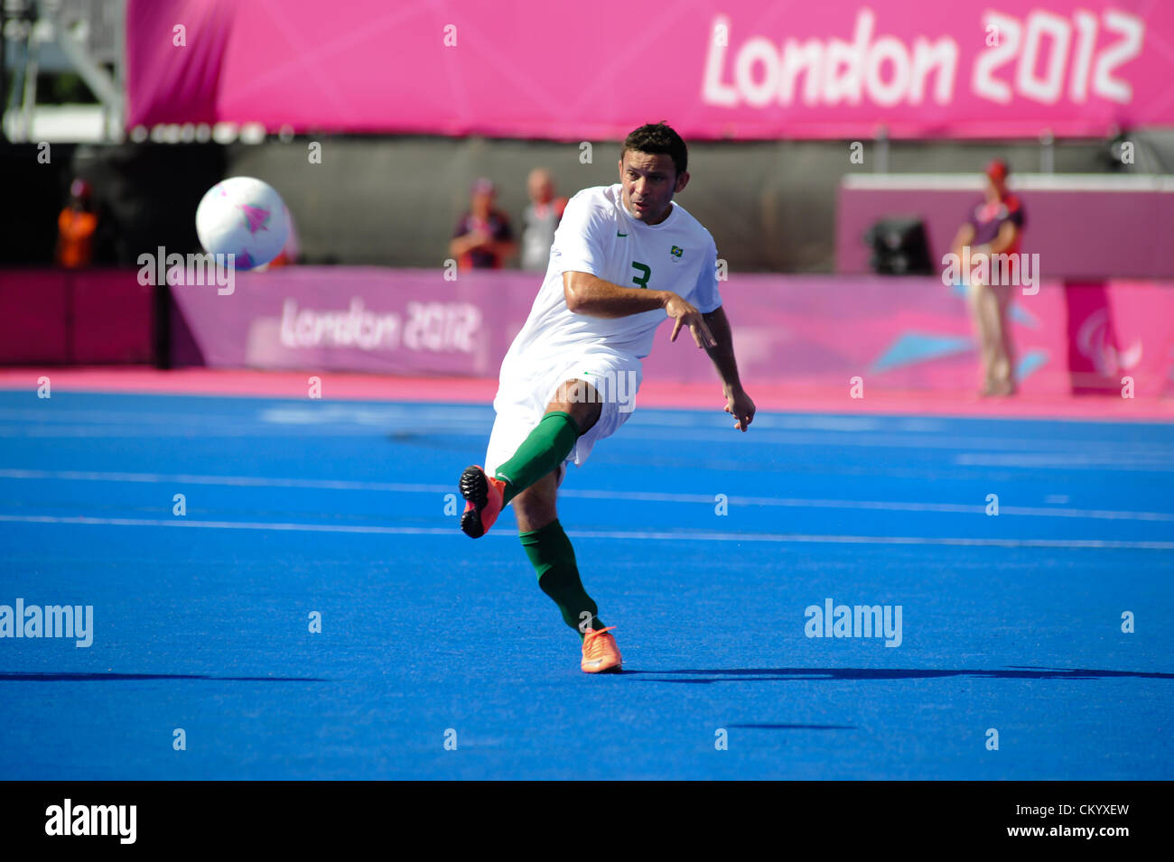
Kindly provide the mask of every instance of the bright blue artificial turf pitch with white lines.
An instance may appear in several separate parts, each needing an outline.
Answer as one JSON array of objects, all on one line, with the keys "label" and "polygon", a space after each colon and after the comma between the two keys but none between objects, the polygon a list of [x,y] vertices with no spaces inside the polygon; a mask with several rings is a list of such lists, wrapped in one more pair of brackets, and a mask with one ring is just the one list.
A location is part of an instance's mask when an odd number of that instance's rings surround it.
[{"label": "bright blue artificial turf pitch with white lines", "polygon": [[1172,426],[637,409],[560,498],[591,677],[452,514],[492,420],[0,392],[0,604],[95,620],[0,639],[0,779],[1174,778]]}]

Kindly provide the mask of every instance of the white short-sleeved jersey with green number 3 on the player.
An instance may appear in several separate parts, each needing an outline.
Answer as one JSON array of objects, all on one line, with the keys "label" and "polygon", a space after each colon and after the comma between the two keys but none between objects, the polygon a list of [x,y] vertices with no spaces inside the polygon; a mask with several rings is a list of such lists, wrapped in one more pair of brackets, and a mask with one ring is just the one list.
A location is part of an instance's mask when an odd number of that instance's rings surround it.
[{"label": "white short-sleeved jersey with green number 3 on the player", "polygon": [[717,246],[709,231],[675,202],[663,222],[647,225],[625,209],[622,192],[620,183],[596,185],[567,203],[546,278],[506,361],[525,357],[533,367],[583,348],[637,359],[652,352],[656,327],[668,318],[663,308],[620,318],[578,314],[567,308],[562,290],[567,271],[589,272],[621,287],[673,291],[702,313],[721,306]]}]

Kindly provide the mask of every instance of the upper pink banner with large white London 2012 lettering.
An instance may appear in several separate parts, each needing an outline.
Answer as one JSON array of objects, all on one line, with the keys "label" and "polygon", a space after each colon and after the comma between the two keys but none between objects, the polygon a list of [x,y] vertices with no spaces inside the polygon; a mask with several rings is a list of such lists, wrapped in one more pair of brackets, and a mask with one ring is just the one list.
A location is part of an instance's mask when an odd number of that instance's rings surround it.
[{"label": "upper pink banner with large white London 2012 lettering", "polygon": [[686,140],[1174,125],[1166,0],[130,0],[128,125]]}]

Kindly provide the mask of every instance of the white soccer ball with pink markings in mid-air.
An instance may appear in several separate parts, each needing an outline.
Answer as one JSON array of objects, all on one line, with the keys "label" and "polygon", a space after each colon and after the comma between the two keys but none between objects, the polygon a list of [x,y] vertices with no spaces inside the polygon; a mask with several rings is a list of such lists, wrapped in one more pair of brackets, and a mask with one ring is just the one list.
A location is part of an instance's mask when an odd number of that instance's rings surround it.
[{"label": "white soccer ball with pink markings in mid-air", "polygon": [[196,233],[204,251],[236,254],[238,270],[263,266],[281,254],[289,229],[282,196],[252,177],[216,183],[196,208]]}]

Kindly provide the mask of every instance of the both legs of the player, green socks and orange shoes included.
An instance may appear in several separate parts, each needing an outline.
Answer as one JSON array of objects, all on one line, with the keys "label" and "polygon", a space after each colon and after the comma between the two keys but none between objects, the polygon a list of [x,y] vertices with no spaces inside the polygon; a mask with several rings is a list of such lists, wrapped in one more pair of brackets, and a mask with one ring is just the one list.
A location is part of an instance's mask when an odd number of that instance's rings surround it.
[{"label": "both legs of the player, green socks and orange shoes included", "polygon": [[[484,535],[501,508],[513,501],[518,537],[538,572],[538,585],[559,606],[564,622],[582,638],[581,667],[587,673],[619,671],[622,659],[615,638],[596,616],[598,606],[583,590],[555,501],[560,466],[579,436],[599,421],[600,413],[594,388],[581,380],[568,380],[538,427],[494,476],[487,476],[480,467],[470,467],[460,481],[468,500],[461,529],[474,538]],[[466,529],[466,521],[471,529]]]}]

